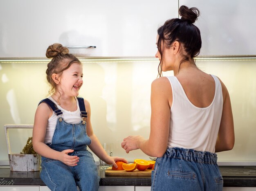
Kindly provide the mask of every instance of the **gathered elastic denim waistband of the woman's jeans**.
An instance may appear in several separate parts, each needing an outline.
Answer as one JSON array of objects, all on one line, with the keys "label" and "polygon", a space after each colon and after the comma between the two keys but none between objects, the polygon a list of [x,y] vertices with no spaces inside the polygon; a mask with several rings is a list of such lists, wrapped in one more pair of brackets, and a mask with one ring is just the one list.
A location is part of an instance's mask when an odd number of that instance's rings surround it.
[{"label": "gathered elastic denim waistband of the woman's jeans", "polygon": [[184,160],[202,162],[207,164],[216,164],[217,163],[217,154],[210,152],[196,151],[193,149],[184,149],[184,148],[169,148],[163,157],[170,158],[180,158]]}]

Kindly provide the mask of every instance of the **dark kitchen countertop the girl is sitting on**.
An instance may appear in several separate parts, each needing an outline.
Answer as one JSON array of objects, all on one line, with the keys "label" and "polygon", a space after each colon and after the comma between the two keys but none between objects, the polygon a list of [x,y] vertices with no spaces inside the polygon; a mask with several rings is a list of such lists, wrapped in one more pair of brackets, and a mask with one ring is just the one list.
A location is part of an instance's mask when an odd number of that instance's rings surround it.
[{"label": "dark kitchen countertop the girl is sitting on", "polygon": [[[220,167],[224,187],[256,187],[256,167]],[[99,170],[100,186],[151,186],[150,176],[105,176],[104,170]],[[0,185],[40,185],[45,186],[40,179],[39,171],[10,171],[7,167],[0,168]]]}]

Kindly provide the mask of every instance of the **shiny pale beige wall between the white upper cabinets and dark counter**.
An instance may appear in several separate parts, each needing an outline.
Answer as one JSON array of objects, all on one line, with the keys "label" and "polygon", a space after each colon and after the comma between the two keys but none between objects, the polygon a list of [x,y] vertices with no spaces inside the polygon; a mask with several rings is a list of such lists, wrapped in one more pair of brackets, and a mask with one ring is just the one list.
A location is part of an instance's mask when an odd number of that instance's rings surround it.
[{"label": "shiny pale beige wall between the white upper cabinets and dark counter", "polygon": [[[32,124],[38,102],[47,96],[46,61],[0,61],[0,161],[8,160],[4,124]],[[199,68],[226,84],[232,102],[236,143],[218,154],[219,161],[256,161],[256,61],[197,61]],[[148,159],[141,151],[126,154],[121,142],[128,135],[148,138],[150,85],[157,77],[158,61],[95,61],[83,63],[80,95],[91,104],[94,133],[101,143],[114,143],[114,155],[128,160]],[[164,75],[173,75],[167,72]],[[23,148],[28,133],[11,138],[13,151]],[[16,135],[14,135],[16,134]],[[97,156],[94,156],[98,160]]]}]

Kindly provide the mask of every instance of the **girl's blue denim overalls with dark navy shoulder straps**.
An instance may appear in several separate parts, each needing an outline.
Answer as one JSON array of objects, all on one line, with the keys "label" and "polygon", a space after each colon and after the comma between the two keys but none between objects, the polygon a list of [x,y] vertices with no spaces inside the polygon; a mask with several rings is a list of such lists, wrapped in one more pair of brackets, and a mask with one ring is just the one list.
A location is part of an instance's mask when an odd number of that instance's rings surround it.
[{"label": "girl's blue denim overalls with dark navy shoulder straps", "polygon": [[80,191],[99,189],[100,178],[97,166],[92,154],[87,150],[87,145],[91,144],[91,139],[86,134],[86,122],[83,120],[83,117],[87,117],[87,112],[83,98],[77,97],[77,99],[81,111],[81,122],[78,124],[66,123],[61,118],[61,110],[50,99],[40,101],[47,103],[58,116],[52,143],[47,145],[56,151],[74,149],[69,155],[79,157],[77,165],[70,167],[59,160],[42,156],[40,178],[52,191],[76,191],[76,186]]}]

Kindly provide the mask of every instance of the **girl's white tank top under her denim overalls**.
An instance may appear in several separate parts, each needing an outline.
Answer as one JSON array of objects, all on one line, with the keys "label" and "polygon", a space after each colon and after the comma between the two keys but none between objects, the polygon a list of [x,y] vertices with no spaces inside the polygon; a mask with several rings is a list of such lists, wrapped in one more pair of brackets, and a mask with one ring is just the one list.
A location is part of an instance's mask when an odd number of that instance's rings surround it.
[{"label": "girl's white tank top under her denim overalls", "polygon": [[[76,98],[76,97],[75,97],[75,98]],[[79,108],[79,103],[78,103],[77,98],[76,98],[77,110],[74,111],[74,112],[70,112],[70,111],[67,111],[67,110],[64,110],[63,108],[61,108],[61,106],[58,105],[58,104],[56,103],[56,101],[55,101],[54,99],[52,99],[52,97],[48,97],[48,99],[50,99],[51,101],[53,101],[53,103],[56,104],[56,106],[58,107],[58,109],[63,112],[63,114],[61,115],[61,117],[63,118],[63,120],[64,120],[65,122],[71,123],[71,124],[77,124],[77,123],[80,123],[80,122],[81,122],[81,114],[80,114],[80,108]],[[48,119],[48,123],[47,123],[47,127],[46,127],[45,144],[52,142],[52,136],[53,136],[54,131],[55,131],[57,119],[58,119],[58,117],[57,117],[56,114],[52,111],[52,116]]]}]

